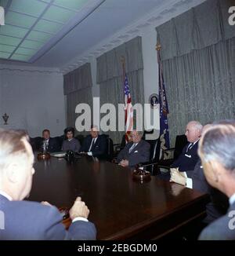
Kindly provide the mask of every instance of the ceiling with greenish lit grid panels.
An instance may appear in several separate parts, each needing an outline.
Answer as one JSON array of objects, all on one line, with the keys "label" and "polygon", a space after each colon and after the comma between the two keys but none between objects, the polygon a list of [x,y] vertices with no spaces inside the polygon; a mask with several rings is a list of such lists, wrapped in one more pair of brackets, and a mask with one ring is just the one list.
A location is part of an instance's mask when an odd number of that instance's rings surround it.
[{"label": "ceiling with greenish lit grid panels", "polygon": [[0,0],[1,62],[62,68],[153,9],[193,1]]}]

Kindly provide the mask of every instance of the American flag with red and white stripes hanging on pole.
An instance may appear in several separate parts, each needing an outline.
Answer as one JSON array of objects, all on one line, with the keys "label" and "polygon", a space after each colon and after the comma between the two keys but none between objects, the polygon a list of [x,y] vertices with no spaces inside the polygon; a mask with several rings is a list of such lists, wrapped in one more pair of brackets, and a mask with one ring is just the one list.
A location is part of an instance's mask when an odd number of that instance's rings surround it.
[{"label": "American flag with red and white stripes hanging on pole", "polygon": [[125,141],[128,142],[128,135],[133,130],[133,108],[128,78],[125,74],[124,82],[124,101],[125,101]]}]

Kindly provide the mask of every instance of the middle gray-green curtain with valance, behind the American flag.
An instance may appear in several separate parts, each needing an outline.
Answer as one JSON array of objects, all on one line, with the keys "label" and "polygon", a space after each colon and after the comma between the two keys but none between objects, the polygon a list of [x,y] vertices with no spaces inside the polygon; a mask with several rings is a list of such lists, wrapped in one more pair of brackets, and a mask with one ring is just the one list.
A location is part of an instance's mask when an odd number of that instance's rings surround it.
[{"label": "middle gray-green curtain with valance, behind the American flag", "polygon": [[[143,55],[141,37],[118,46],[97,58],[97,83],[100,105],[105,103],[124,104],[124,80],[121,58],[125,57],[125,71],[128,76],[132,104],[143,104]],[[106,115],[106,114],[103,114]],[[100,115],[101,118],[103,115]],[[118,115],[116,113],[116,119]],[[117,122],[116,122],[116,127]],[[124,132],[107,132],[115,143],[120,143]]]}]

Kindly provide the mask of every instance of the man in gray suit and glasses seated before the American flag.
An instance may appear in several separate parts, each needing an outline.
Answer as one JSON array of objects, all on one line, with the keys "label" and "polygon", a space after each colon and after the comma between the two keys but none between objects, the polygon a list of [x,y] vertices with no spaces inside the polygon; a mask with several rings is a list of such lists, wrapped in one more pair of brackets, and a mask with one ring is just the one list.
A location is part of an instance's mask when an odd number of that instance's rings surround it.
[{"label": "man in gray suit and glasses seated before the American flag", "polygon": [[150,144],[142,140],[143,133],[140,131],[133,130],[130,137],[132,142],[128,142],[117,155],[117,163],[132,169],[136,164],[150,160]]}]

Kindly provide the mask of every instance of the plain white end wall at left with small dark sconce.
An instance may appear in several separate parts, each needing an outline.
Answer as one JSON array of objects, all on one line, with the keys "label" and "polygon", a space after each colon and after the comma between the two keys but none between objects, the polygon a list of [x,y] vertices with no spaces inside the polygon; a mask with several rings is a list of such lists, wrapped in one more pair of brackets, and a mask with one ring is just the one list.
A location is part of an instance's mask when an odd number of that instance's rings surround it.
[{"label": "plain white end wall at left with small dark sconce", "polygon": [[[3,125],[5,112],[8,126]],[[24,129],[31,137],[40,136],[45,128],[51,130],[52,137],[63,134],[63,75],[0,68],[0,115],[0,127]]]}]

